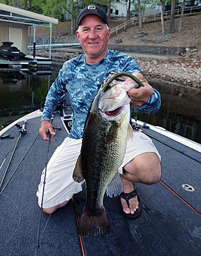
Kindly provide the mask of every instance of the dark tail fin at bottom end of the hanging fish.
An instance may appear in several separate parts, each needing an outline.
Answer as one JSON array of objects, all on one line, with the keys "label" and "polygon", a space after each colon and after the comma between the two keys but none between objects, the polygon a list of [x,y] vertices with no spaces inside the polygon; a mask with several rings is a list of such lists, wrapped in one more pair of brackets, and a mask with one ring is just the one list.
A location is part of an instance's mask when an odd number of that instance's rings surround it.
[{"label": "dark tail fin at bottom end of the hanging fish", "polygon": [[110,233],[109,221],[105,208],[96,215],[88,215],[84,207],[82,217],[80,219],[78,234],[82,236],[104,236]]}]

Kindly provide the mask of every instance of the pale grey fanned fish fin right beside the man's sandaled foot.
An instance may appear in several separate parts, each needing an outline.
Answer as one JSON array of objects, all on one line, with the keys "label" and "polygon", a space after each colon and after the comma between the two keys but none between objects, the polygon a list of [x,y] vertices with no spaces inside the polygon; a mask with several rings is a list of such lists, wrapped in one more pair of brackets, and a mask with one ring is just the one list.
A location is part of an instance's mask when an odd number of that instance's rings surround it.
[{"label": "pale grey fanned fish fin right beside the man's sandaled foot", "polygon": [[109,186],[107,187],[106,194],[109,197],[118,196],[123,191],[123,184],[119,173],[117,173],[113,180],[110,182]]}]

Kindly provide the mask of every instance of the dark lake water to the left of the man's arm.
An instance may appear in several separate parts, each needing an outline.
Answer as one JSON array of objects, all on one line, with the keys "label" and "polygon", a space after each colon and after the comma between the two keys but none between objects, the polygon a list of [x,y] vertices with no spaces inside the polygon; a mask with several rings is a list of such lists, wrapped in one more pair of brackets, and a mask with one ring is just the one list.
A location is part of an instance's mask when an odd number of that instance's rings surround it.
[{"label": "dark lake water to the left of the man's arm", "polygon": [[42,73],[7,70],[0,72],[1,127],[40,107],[56,77],[52,74],[55,72],[57,75],[57,70]]}]

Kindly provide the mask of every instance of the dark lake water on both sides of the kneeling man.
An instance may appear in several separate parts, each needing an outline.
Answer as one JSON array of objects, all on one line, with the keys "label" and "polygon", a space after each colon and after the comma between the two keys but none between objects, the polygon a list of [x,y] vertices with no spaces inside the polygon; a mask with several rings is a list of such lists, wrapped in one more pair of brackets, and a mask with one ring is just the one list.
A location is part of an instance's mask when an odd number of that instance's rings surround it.
[{"label": "dark lake water on both sides of the kneeling man", "polygon": [[[40,108],[60,67],[55,65],[51,74],[43,75],[0,71],[0,128]],[[161,109],[149,118],[139,112],[138,119],[201,143],[201,90],[148,81],[161,93]]]}]

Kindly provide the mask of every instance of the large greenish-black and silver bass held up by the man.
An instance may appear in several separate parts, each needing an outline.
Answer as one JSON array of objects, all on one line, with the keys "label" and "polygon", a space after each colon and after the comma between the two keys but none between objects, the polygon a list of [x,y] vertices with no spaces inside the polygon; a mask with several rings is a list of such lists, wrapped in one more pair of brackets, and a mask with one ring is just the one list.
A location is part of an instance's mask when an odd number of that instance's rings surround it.
[{"label": "large greenish-black and silver bass held up by the man", "polygon": [[73,173],[76,182],[86,181],[86,204],[78,227],[81,236],[110,234],[103,197],[106,190],[110,197],[122,192],[118,169],[125,156],[127,140],[133,136],[127,91],[136,87],[138,83],[133,79],[110,74],[88,110]]}]

